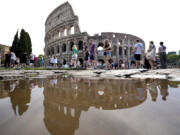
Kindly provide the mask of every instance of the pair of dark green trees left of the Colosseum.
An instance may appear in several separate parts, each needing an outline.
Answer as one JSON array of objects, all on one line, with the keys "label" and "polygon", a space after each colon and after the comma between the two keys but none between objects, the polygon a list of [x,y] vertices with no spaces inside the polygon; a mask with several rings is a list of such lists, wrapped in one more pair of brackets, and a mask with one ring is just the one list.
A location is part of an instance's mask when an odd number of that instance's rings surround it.
[{"label": "pair of dark green trees left of the Colosseum", "polygon": [[32,44],[31,44],[31,38],[29,36],[29,33],[26,32],[24,29],[21,30],[20,38],[18,37],[18,31],[16,32],[16,35],[14,36],[14,41],[12,43],[12,46],[10,48],[12,52],[15,52],[16,56],[20,56],[22,53],[27,53],[29,56],[32,52]]}]

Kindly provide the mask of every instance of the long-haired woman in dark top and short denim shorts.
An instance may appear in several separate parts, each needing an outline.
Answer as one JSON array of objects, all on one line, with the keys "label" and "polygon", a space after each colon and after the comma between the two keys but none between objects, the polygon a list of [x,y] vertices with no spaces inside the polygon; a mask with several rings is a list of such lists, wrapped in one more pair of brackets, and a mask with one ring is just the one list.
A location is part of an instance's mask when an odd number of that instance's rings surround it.
[{"label": "long-haired woman in dark top and short denim shorts", "polygon": [[111,58],[111,43],[109,42],[108,39],[106,39],[105,42],[104,42],[103,50],[104,50],[106,69],[110,69],[109,60]]}]

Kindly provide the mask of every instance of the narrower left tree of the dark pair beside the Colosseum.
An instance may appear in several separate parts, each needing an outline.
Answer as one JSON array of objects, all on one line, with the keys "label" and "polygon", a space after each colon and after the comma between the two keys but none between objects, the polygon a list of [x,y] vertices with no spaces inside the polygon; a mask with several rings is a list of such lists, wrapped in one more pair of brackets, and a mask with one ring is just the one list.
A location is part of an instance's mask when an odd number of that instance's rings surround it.
[{"label": "narrower left tree of the dark pair beside the Colosseum", "polygon": [[11,52],[15,52],[15,54],[18,56],[18,44],[19,44],[19,37],[18,37],[18,31],[16,32],[16,35],[14,36],[14,41],[12,43],[12,46],[10,47]]}]

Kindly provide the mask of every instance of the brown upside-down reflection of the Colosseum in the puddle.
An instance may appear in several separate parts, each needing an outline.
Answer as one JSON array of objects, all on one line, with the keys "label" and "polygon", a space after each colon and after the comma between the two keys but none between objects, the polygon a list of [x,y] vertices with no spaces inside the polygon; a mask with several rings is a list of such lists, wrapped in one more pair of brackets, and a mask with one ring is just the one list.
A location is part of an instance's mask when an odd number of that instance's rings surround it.
[{"label": "brown upside-down reflection of the Colosseum in the puddle", "polygon": [[44,84],[44,122],[53,135],[73,135],[79,128],[81,112],[90,107],[125,109],[138,106],[147,98],[142,82],[72,78],[71,82],[60,79],[56,85]]}]

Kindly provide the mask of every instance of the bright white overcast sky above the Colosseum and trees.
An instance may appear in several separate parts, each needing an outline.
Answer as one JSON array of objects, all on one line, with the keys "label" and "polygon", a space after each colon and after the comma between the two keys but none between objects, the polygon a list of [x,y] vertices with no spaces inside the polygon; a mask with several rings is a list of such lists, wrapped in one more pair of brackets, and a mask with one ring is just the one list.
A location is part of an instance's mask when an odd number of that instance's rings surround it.
[{"label": "bright white overcast sky above the Colosseum and trees", "polygon": [[[45,21],[67,0],[1,0],[0,44],[12,45],[16,31],[31,36],[33,53],[43,54]],[[69,0],[81,32],[133,34],[146,43],[163,41],[167,51],[180,50],[180,0]]]}]

